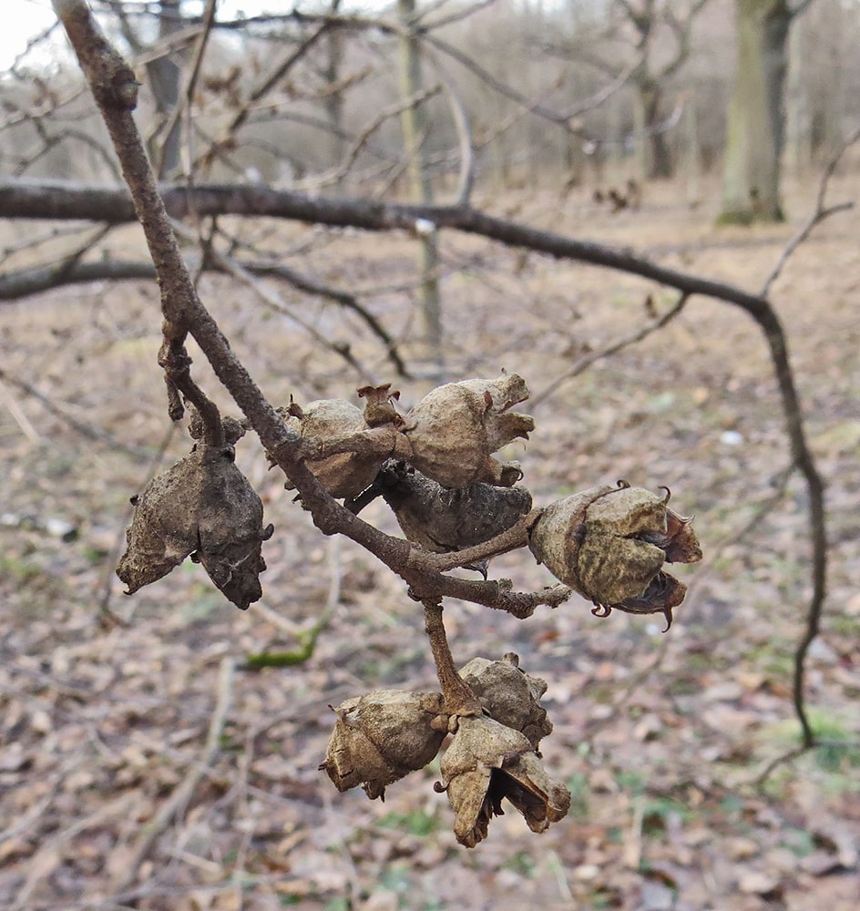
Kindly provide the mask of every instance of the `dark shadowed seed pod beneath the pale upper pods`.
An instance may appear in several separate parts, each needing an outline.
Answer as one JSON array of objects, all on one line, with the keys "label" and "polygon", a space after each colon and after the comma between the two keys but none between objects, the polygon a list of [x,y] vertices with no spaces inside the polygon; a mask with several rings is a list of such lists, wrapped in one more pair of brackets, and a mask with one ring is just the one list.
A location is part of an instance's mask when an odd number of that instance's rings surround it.
[{"label": "dark shadowed seed pod beneath the pale upper pods", "polygon": [[404,462],[390,460],[376,476],[407,540],[434,553],[483,544],[531,509],[525,487],[443,487]]}]

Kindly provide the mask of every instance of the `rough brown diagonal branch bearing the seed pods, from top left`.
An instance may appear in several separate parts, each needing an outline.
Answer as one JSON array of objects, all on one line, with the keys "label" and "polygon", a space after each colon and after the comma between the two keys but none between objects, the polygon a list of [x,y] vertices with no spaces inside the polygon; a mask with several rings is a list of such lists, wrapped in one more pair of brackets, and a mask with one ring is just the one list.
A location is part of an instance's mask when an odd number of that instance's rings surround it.
[{"label": "rough brown diagonal branch bearing the seed pods, from top left", "polygon": [[117,150],[147,239],[161,288],[166,343],[171,348],[177,347],[188,333],[200,345],[221,384],[298,491],[302,506],[310,511],[314,524],[325,535],[343,534],[369,550],[403,578],[420,600],[466,599],[523,618],[530,616],[538,605],[555,606],[567,599],[570,590],[566,586],[519,593],[511,591],[507,580],[475,582],[444,576],[424,559],[421,548],[368,525],[326,493],[305,465],[302,437],[284,424],[200,302],[131,116],[138,85],[133,72],[97,31],[84,0],[53,0],[53,3]]}]

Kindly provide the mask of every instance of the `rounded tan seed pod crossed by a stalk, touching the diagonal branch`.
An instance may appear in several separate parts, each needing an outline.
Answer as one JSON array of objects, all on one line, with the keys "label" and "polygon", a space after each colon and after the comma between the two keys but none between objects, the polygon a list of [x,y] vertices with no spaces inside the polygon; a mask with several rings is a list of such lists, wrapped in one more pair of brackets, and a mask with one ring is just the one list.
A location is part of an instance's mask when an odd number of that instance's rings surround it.
[{"label": "rounded tan seed pod crossed by a stalk, touching the diagonal branch", "polygon": [[[303,408],[292,404],[281,413],[303,437],[319,443],[368,429],[362,410],[345,399],[320,399]],[[384,461],[384,455],[338,453],[315,461],[309,459],[307,465],[332,496],[350,497],[373,484]]]}]

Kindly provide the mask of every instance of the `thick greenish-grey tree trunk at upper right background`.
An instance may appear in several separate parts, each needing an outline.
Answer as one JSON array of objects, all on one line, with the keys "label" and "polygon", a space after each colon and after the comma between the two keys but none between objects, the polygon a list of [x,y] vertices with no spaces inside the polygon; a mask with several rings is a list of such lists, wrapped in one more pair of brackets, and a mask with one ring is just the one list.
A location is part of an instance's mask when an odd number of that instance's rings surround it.
[{"label": "thick greenish-grey tree trunk at upper right background", "polygon": [[726,125],[720,221],[782,221],[783,89],[792,11],[786,0],[736,0],[738,59]]}]

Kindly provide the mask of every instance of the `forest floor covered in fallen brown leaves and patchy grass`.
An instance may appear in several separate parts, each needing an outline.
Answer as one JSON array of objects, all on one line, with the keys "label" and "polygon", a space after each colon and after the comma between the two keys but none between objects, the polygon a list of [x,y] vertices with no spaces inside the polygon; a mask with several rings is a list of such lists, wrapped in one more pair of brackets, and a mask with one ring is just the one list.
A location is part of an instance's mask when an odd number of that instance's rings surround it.
[{"label": "forest floor covered in fallen brown leaves and patchy grass", "polygon": [[[716,188],[711,198],[716,198]],[[617,215],[573,189],[491,194],[494,213],[758,292],[814,207],[788,191],[789,223],[713,227],[715,203],[649,187]],[[831,201],[857,200],[839,178]],[[300,225],[228,223],[258,250],[353,292],[416,351],[415,241]],[[31,230],[27,228],[26,230]],[[33,229],[35,230],[35,229]],[[44,231],[44,226],[38,230]],[[435,689],[420,609],[349,541],[320,537],[267,471],[255,438],[237,463],[260,491],[264,596],[246,612],[187,561],[127,598],[113,574],[128,497],[189,441],[170,432],[157,291],[76,286],[0,307],[0,906],[165,911],[619,908],[855,911],[860,906],[860,212],[835,215],[793,255],[772,300],[790,340],[806,429],[827,485],[829,568],[806,696],[827,745],[798,743],[793,654],[811,597],[804,485],[790,454],[763,336],[731,305],[693,298],[641,343],[549,391],[583,358],[666,312],[674,295],[630,276],[442,238],[452,378],[531,386],[537,431],[512,446],[538,505],[626,478],[670,486],[696,515],[705,557],[671,630],[592,616],[574,598],[519,621],[452,602],[456,659],[507,651],[548,682],[545,763],[568,783],[567,818],[544,834],[509,812],[474,850],[456,844],[438,761],[384,803],[337,793],[318,770],[328,706],[374,688]],[[116,230],[116,255],[140,254]],[[5,241],[7,242],[7,241]],[[363,324],[270,284],[204,277],[200,293],[274,404],[353,396],[396,377]],[[363,374],[331,348],[348,342]],[[415,361],[410,361],[415,363]],[[195,375],[215,389],[203,358]],[[226,407],[228,413],[235,410]],[[394,532],[383,505],[366,518]],[[527,554],[491,576],[550,581]],[[301,665],[242,670],[292,650],[327,612]],[[660,618],[657,618],[660,620]]]}]

